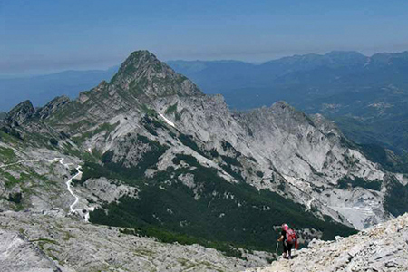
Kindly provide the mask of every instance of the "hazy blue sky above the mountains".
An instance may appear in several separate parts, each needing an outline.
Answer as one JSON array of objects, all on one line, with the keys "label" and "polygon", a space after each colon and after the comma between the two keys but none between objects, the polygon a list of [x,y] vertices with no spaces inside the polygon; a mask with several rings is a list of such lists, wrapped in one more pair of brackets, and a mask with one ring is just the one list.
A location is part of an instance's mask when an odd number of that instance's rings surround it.
[{"label": "hazy blue sky above the mountains", "polygon": [[0,0],[0,75],[161,60],[408,50],[403,0]]}]

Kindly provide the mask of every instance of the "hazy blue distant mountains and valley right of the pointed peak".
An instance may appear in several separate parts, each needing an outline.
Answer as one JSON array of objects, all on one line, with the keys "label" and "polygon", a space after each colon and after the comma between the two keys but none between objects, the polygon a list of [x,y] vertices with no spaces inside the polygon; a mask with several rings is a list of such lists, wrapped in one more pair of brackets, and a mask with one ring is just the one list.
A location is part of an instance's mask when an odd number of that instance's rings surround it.
[{"label": "hazy blue distant mountains and valley right of the pointed peak", "polygon": [[285,100],[323,113],[345,135],[405,153],[408,146],[408,52],[306,54],[262,64],[173,61],[204,92],[221,93],[238,110]]}]

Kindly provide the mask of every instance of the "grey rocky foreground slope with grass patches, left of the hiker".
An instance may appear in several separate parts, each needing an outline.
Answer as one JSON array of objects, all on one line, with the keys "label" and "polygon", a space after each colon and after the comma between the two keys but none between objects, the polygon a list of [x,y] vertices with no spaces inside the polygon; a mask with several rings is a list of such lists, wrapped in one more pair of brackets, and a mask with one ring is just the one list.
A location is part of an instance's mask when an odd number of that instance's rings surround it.
[{"label": "grey rocky foreground slope with grass patches, left of the hiker", "polygon": [[[240,271],[261,258],[225,257],[199,245],[160,243],[63,216],[0,213],[0,271]],[[256,252],[255,252],[256,253]]]}]

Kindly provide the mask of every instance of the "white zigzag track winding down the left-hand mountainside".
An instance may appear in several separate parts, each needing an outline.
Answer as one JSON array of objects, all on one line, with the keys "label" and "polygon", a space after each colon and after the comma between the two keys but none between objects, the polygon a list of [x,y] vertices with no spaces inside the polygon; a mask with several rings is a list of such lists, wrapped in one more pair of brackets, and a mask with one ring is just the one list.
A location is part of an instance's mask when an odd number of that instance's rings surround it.
[{"label": "white zigzag track winding down the left-hand mountainside", "polygon": [[[49,162],[49,163],[53,163],[53,162],[56,162],[56,161],[59,161],[66,169],[69,169],[69,166],[70,165],[73,165],[73,163],[63,163],[63,160],[64,160],[64,158],[53,158],[52,160],[47,160],[47,159],[44,159],[45,161],[47,161],[47,162]],[[21,164],[21,163],[24,163],[24,162],[39,162],[40,160],[19,160],[19,161],[17,161],[17,162],[14,162],[14,163],[9,163],[9,164],[2,164],[2,165],[0,165],[0,168],[5,168],[5,167],[8,167],[8,166],[14,166],[14,165],[17,165],[17,164]],[[70,194],[73,196],[73,198],[75,199],[74,201],[73,201],[73,204],[71,204],[70,205],[70,212],[69,212],[69,214],[72,214],[72,213],[79,213],[79,214],[83,214],[83,219],[85,219],[85,221],[88,221],[88,219],[89,219],[89,211],[93,211],[95,208],[94,207],[85,207],[85,208],[83,208],[83,209],[73,209],[74,207],[75,207],[75,205],[76,204],[78,204],[78,202],[79,202],[79,197],[77,196],[77,195],[75,195],[74,193],[73,193],[73,189],[71,188],[71,183],[73,182],[73,179],[76,179],[78,176],[80,176],[80,175],[82,175],[83,174],[83,172],[81,171],[81,166],[80,165],[78,165],[77,167],[76,167],[76,170],[78,171],[73,177],[71,177],[71,179],[69,179],[69,180],[67,180],[66,182],[65,182],[65,184],[66,184],[66,189],[68,189],[68,191],[70,192]],[[86,210],[87,212],[86,213],[84,213],[83,212],[83,210]]]}]

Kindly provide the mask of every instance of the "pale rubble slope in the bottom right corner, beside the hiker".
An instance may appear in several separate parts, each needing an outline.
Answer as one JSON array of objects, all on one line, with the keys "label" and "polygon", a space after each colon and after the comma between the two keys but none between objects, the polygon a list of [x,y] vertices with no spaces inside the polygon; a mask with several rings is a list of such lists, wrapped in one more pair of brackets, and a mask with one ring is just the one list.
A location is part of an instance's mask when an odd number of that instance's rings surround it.
[{"label": "pale rubble slope in the bottom right corner, beside the hiker", "polygon": [[246,272],[408,271],[408,214],[336,241],[313,240],[292,260]]}]

